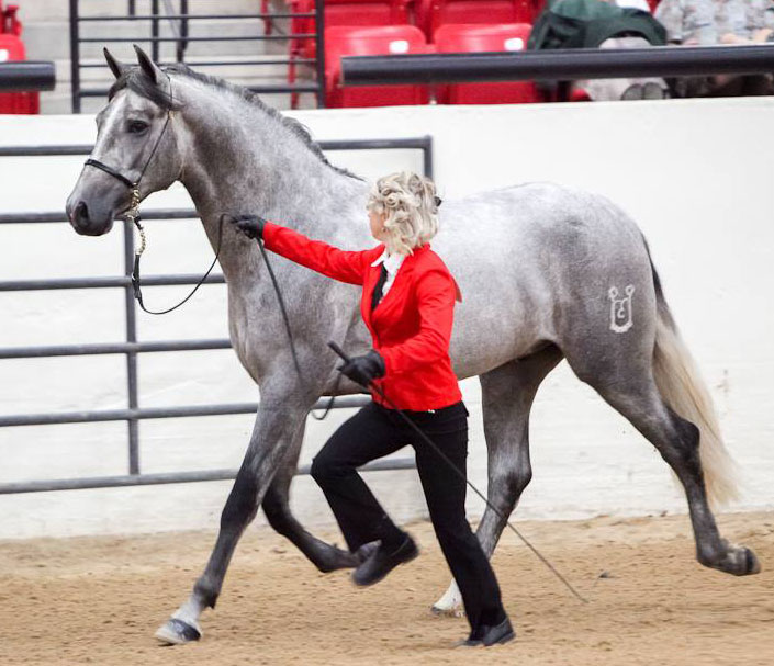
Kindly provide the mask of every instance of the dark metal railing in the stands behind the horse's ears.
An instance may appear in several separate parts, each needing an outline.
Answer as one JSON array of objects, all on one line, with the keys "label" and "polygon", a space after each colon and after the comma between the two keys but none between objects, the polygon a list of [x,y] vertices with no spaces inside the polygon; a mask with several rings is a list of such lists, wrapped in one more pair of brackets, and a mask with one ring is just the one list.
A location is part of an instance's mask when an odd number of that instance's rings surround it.
[{"label": "dark metal railing in the stands behind the horse's ears", "polygon": [[[136,43],[141,46],[150,45],[150,56],[155,63],[159,65],[168,65],[169,61],[160,60],[161,45],[175,44],[175,60],[177,63],[186,61],[186,50],[192,42],[204,43],[224,43],[224,42],[287,42],[287,55],[283,57],[249,57],[246,59],[209,59],[197,60],[192,63],[197,69],[209,69],[217,67],[266,67],[270,65],[288,65],[293,68],[293,72],[298,66],[304,65],[313,67],[316,74],[316,80],[311,82],[293,82],[263,84],[263,86],[247,86],[254,92],[263,94],[291,93],[298,94],[302,92],[314,93],[317,99],[317,106],[325,106],[325,49],[323,47],[323,35],[325,32],[325,16],[323,11],[324,0],[315,0],[314,11],[312,12],[256,12],[249,14],[235,13],[192,13],[189,11],[189,0],[178,0],[179,10],[177,13],[171,9],[171,0],[164,2],[161,7],[159,0],[150,0],[150,12],[138,14],[136,3],[128,2],[125,15],[82,15],[79,10],[79,0],[69,0],[70,7],[70,79],[71,79],[71,95],[72,95],[72,113],[81,112],[81,103],[85,98],[103,98],[108,93],[106,88],[86,88],[82,82],[83,69],[106,68],[104,61],[83,63],[81,57],[81,44],[116,44],[116,43]],[[195,0],[192,0],[195,3]],[[170,11],[171,10],[171,11]],[[272,25],[272,22],[278,19],[290,19],[291,32],[289,34],[271,34],[272,31],[266,26]],[[263,23],[263,34],[249,35],[228,35],[218,34],[214,36],[192,36],[190,34],[191,25],[201,24],[202,21],[259,21]],[[111,24],[116,23],[133,23],[142,24],[146,30],[138,32],[132,36],[115,36],[111,35],[105,29]],[[168,23],[171,26],[171,36],[161,36],[160,26]],[[99,32],[82,34],[86,25],[101,25]],[[301,27],[306,32],[293,32]],[[278,32],[278,31],[273,31]],[[306,46],[314,44],[314,48]],[[309,57],[313,53],[314,57]],[[304,55],[307,54],[307,55]],[[290,71],[290,70],[289,70]],[[290,77],[289,77],[290,78]]]}]

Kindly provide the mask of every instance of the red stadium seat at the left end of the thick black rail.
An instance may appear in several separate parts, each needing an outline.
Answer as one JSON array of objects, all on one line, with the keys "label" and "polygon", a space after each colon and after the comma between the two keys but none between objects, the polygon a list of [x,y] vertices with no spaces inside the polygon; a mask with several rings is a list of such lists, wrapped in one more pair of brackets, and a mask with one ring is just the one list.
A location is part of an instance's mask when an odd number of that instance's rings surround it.
[{"label": "red stadium seat at the left end of the thick black rail", "polygon": [[422,31],[414,25],[325,29],[325,88],[328,106],[396,106],[427,104],[426,86],[364,86],[343,88],[343,56],[419,54],[427,52]]}]

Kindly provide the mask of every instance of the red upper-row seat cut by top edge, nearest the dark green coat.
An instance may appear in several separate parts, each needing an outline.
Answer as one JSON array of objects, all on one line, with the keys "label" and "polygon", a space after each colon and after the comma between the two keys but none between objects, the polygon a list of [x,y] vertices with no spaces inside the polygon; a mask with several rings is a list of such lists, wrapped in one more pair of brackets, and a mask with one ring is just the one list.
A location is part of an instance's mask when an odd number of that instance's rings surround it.
[{"label": "red upper-row seat cut by top edge, nearest the dark green coat", "polygon": [[429,41],[441,25],[448,23],[532,23],[536,11],[536,0],[416,1],[416,24]]}]

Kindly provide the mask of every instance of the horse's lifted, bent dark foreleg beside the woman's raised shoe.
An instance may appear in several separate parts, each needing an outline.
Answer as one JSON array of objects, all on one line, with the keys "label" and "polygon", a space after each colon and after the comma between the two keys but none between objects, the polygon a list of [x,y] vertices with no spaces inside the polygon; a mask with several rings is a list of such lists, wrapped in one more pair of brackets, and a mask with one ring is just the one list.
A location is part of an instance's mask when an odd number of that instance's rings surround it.
[{"label": "horse's lifted, bent dark foreleg beside the woman's raised shoe", "polygon": [[357,566],[360,557],[310,534],[290,511],[290,484],[295,475],[305,425],[299,428],[292,450],[274,475],[263,497],[263,511],[269,524],[288,538],[321,572]]}]

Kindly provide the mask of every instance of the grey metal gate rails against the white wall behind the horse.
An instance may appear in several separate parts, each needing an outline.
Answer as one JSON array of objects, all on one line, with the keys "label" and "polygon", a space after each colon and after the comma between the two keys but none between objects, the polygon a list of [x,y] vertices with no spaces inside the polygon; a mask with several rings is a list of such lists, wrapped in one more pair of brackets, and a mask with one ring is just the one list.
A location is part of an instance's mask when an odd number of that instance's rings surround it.
[{"label": "grey metal gate rails against the white wall behind the horse", "polygon": [[[324,150],[384,150],[417,149],[423,151],[423,165],[426,176],[433,176],[433,139],[429,136],[418,138],[362,139],[319,142]],[[0,147],[2,157],[88,155],[92,146],[21,146]],[[192,219],[197,218],[193,210],[148,210],[143,212],[144,219]],[[0,225],[65,223],[66,215],[60,212],[0,214]],[[141,341],[137,339],[137,311],[132,287],[132,269],[134,266],[134,233],[128,222],[123,227],[124,274],[108,278],[70,278],[59,280],[3,280],[0,292],[29,292],[41,290],[72,289],[121,289],[125,312],[125,341],[92,345],[56,345],[44,347],[4,347],[0,348],[2,359],[40,359],[53,357],[80,357],[96,354],[124,354],[126,357],[126,394],[125,409],[86,410],[54,414],[10,414],[0,416],[0,427],[42,426],[59,424],[85,424],[104,421],[126,421],[128,430],[128,474],[101,476],[92,478],[65,478],[53,481],[29,481],[0,484],[0,495],[10,493],[34,493],[75,488],[104,488],[127,485],[150,485],[169,483],[188,483],[194,481],[216,481],[234,478],[236,470],[210,470],[201,472],[177,472],[165,474],[142,474],[139,464],[139,421],[144,419],[180,418],[191,416],[221,416],[253,414],[258,403],[237,403],[221,405],[188,405],[161,408],[139,406],[138,355],[154,352],[194,351],[228,349],[227,339],[204,340],[164,340]],[[143,279],[144,286],[167,286],[195,284],[199,275],[148,275]],[[223,284],[223,275],[210,275],[204,284]],[[327,405],[327,398],[321,399],[315,408]],[[343,396],[336,399],[334,408],[359,407],[368,403],[361,396]],[[412,460],[393,460],[374,463],[367,470],[403,470],[413,466]],[[301,467],[300,474],[307,473]]]}]

